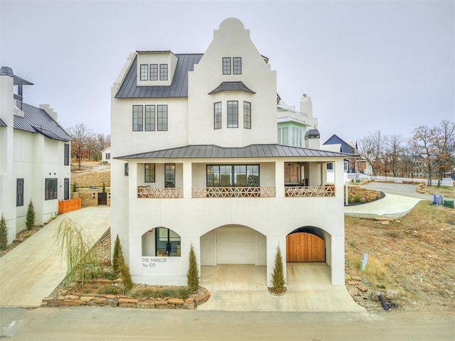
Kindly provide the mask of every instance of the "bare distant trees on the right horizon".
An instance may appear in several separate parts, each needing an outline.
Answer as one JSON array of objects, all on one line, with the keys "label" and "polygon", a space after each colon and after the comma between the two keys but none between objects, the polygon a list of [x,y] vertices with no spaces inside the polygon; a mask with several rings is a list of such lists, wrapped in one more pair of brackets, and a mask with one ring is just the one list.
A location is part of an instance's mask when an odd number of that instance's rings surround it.
[{"label": "bare distant trees on the right horizon", "polygon": [[373,176],[441,180],[454,173],[455,122],[442,120],[437,126],[417,126],[412,136],[369,133],[358,141],[358,153],[370,163]]}]

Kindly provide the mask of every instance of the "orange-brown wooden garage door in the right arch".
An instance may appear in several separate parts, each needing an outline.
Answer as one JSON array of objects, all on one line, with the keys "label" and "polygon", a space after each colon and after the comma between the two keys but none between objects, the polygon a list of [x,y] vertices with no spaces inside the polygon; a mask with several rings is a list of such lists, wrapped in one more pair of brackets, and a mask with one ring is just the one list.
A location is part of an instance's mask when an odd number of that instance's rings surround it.
[{"label": "orange-brown wooden garage door in the right arch", "polygon": [[297,232],[286,237],[287,261],[326,261],[324,240],[318,236]]}]

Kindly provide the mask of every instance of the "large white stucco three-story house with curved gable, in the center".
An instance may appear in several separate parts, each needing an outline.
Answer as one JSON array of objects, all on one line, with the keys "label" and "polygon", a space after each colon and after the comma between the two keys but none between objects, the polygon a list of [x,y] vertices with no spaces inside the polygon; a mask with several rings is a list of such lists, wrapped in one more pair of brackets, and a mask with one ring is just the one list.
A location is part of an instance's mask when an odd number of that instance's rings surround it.
[{"label": "large white stucco three-story house with curved gable, in the center", "polygon": [[185,285],[192,244],[199,266],[266,265],[269,286],[277,247],[344,284],[345,154],[277,144],[277,75],[242,22],[203,54],[129,55],[111,125],[112,241],[134,281]]}]

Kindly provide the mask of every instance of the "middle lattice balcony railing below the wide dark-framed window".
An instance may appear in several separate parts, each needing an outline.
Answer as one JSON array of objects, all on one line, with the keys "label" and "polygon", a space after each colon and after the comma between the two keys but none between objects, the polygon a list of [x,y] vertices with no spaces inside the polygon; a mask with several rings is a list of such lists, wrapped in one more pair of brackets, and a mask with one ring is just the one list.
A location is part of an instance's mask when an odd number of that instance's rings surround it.
[{"label": "middle lattice balcony railing below the wide dark-framed window", "polygon": [[274,197],[274,187],[193,188],[193,197]]}]

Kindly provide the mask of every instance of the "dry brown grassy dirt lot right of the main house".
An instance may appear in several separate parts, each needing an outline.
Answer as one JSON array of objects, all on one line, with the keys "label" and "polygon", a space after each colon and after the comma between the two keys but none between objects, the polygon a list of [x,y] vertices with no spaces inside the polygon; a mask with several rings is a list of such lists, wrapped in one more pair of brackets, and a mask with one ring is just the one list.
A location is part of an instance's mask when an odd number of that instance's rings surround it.
[{"label": "dry brown grassy dirt lot right of the main house", "polygon": [[[400,292],[397,310],[455,310],[454,209],[422,201],[395,222],[345,217],[345,234],[346,273],[368,288],[353,296],[360,305],[381,309],[372,306],[371,291],[391,288]],[[363,253],[368,264],[358,271]]]}]

